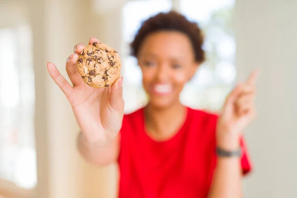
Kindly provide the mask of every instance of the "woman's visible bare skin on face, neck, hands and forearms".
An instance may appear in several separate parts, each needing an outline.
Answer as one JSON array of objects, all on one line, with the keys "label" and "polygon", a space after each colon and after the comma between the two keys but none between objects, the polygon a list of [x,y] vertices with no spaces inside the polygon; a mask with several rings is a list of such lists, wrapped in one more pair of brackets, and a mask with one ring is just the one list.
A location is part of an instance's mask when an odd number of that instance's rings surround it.
[{"label": "woman's visible bare skin on face, neck, hands and forearms", "polygon": [[[91,38],[89,44],[99,42]],[[86,85],[76,68],[78,53],[84,45],[74,47],[74,54],[66,61],[71,86],[53,63],[48,63],[49,74],[65,93],[77,122],[82,129],[78,149],[86,160],[103,165],[115,162],[119,154],[124,101],[119,77],[106,89]],[[186,107],[179,101],[184,85],[193,77],[199,63],[189,38],[179,32],[166,31],[148,35],[138,55],[143,73],[143,86],[149,95],[145,108],[146,131],[156,141],[165,141],[177,133],[186,118]],[[253,72],[247,82],[238,84],[227,97],[217,123],[217,146],[225,150],[239,148],[241,132],[255,117],[255,80]],[[157,87],[166,85],[166,93]],[[166,89],[167,89],[166,88]],[[218,157],[209,198],[243,197],[240,158]]]}]

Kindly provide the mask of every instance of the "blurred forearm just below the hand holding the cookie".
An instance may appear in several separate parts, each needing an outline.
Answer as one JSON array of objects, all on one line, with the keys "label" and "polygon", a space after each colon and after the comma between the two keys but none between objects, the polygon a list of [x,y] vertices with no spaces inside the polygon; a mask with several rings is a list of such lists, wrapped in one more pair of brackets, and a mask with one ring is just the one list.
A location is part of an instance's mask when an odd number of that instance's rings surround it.
[{"label": "blurred forearm just below the hand holding the cookie", "polygon": [[95,165],[105,165],[116,160],[119,152],[119,137],[104,142],[90,143],[83,133],[78,135],[77,147],[81,155],[89,162]]}]

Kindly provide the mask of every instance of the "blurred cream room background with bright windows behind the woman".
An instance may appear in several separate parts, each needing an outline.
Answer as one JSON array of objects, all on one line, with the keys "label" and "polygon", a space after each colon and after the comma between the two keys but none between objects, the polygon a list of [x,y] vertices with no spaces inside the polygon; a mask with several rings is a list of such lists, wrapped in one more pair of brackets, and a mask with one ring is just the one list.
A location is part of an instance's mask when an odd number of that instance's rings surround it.
[{"label": "blurred cream room background with bright windows behind the woman", "polygon": [[246,131],[246,198],[297,197],[297,0],[0,0],[0,198],[115,198],[116,164],[76,150],[79,128],[46,64],[66,76],[74,45],[96,36],[119,51],[125,112],[147,102],[129,43],[141,22],[171,9],[198,22],[207,61],[181,101],[219,112],[259,68],[258,118]]}]

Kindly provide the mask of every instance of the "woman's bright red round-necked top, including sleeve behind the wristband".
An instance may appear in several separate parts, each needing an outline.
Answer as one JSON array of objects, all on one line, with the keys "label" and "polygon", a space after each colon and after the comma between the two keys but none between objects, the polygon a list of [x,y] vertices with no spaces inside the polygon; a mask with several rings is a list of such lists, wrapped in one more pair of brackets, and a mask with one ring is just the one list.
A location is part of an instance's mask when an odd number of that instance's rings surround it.
[{"label": "woman's bright red round-necked top, including sleeve behind the wristband", "polygon": [[[170,140],[145,132],[144,109],[125,115],[119,154],[119,198],[205,198],[216,166],[217,116],[188,108],[185,123]],[[243,173],[251,169],[241,140]]]}]

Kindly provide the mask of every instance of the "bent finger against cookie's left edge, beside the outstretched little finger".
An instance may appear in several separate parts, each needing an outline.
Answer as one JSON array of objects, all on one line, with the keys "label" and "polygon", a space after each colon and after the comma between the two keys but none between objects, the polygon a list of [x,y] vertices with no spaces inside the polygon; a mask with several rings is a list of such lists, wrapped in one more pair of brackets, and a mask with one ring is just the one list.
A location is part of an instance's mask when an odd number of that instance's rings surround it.
[{"label": "bent finger against cookie's left edge, beside the outstretched little finger", "polygon": [[70,55],[66,60],[66,71],[73,84],[73,86],[80,85],[83,83],[81,75],[78,73],[76,62],[78,54],[74,53]]}]

